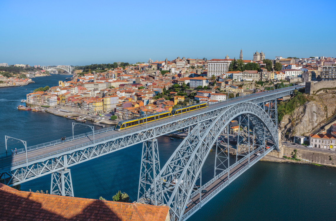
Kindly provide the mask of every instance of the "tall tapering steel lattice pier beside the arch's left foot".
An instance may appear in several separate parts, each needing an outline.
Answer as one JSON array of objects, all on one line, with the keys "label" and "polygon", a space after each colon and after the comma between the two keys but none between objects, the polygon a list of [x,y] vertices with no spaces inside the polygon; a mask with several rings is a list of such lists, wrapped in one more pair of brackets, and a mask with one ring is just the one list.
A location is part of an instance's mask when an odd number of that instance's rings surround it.
[{"label": "tall tapering steel lattice pier beside the arch's left foot", "polygon": [[161,204],[162,190],[157,182],[161,182],[159,149],[158,140],[153,139],[142,143],[138,201],[156,206]]}]

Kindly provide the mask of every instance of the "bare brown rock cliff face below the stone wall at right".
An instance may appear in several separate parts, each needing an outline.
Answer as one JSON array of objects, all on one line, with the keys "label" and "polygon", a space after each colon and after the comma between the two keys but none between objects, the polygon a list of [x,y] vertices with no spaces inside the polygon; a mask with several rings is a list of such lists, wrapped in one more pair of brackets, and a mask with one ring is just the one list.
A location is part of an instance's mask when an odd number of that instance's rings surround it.
[{"label": "bare brown rock cliff face below the stone wall at right", "polygon": [[295,111],[286,114],[279,123],[284,140],[292,140],[295,135],[308,136],[326,123],[336,113],[336,91],[319,92],[308,96],[309,101]]}]

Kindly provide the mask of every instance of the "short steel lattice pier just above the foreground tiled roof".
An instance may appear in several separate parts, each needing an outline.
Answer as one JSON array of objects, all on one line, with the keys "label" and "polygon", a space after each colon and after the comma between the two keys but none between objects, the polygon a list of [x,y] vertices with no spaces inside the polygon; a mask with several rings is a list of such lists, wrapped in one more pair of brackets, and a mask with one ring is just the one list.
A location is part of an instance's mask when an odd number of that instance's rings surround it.
[{"label": "short steel lattice pier just above the foreground tiled roof", "polygon": [[64,169],[51,174],[50,194],[74,197],[70,169]]}]

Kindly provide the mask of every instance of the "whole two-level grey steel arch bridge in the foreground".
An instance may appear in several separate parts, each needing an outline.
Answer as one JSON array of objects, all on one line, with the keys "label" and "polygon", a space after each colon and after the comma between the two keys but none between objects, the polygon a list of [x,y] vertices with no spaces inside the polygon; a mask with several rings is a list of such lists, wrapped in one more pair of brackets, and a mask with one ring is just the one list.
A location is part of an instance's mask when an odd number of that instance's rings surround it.
[{"label": "whole two-level grey steel arch bridge in the foreground", "polygon": [[[52,174],[51,194],[74,196],[69,167],[142,143],[137,201],[167,205],[172,221],[186,220],[263,156],[279,150],[277,99],[303,87],[237,97],[124,131],[106,128],[70,136],[65,143],[18,149],[14,157],[3,153],[0,181],[14,186]],[[186,138],[161,167],[157,137],[181,129],[187,129]],[[211,149],[216,153],[214,177],[202,184]]]}]

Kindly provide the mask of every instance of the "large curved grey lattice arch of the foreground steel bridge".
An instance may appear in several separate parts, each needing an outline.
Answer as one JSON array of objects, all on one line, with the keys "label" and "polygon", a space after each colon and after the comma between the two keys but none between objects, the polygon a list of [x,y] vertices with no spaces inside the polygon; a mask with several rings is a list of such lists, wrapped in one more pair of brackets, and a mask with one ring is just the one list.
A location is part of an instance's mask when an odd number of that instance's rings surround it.
[{"label": "large curved grey lattice arch of the foreground steel bridge", "polygon": [[[161,170],[160,183],[164,200],[163,203],[167,204],[171,208],[171,220],[182,219],[193,187],[200,174],[200,170],[203,167],[204,161],[211,150],[211,147],[214,145],[217,137],[220,135],[225,126],[228,125],[230,120],[241,114],[251,114],[257,117],[269,131],[275,146],[279,146],[278,129],[276,128],[276,125],[259,105],[251,102],[244,102],[230,106],[214,118],[211,123],[203,123],[202,126],[195,127],[192,131],[194,133],[198,133],[198,136],[195,137],[198,137],[199,140],[191,144],[191,146],[194,147],[190,149],[192,152],[185,151],[185,147],[187,145],[180,145],[172,155],[179,156],[179,158],[170,158],[171,162],[167,162]],[[192,135],[188,134],[188,136],[190,137]],[[185,143],[185,141],[183,142]],[[190,141],[188,143],[190,144]],[[182,148],[183,150],[179,150]],[[186,156],[182,156],[181,153],[187,154]],[[180,162],[183,162],[183,164],[180,164]],[[172,167],[170,163],[175,163],[179,168],[177,169],[177,167]],[[176,171],[174,171],[174,169],[176,169]],[[177,179],[178,181],[176,182]],[[165,180],[165,182],[163,182],[163,180]],[[171,183],[172,181],[169,183],[168,180],[174,180],[175,185],[174,183]],[[172,188],[172,186],[174,186],[174,188]]]}]

